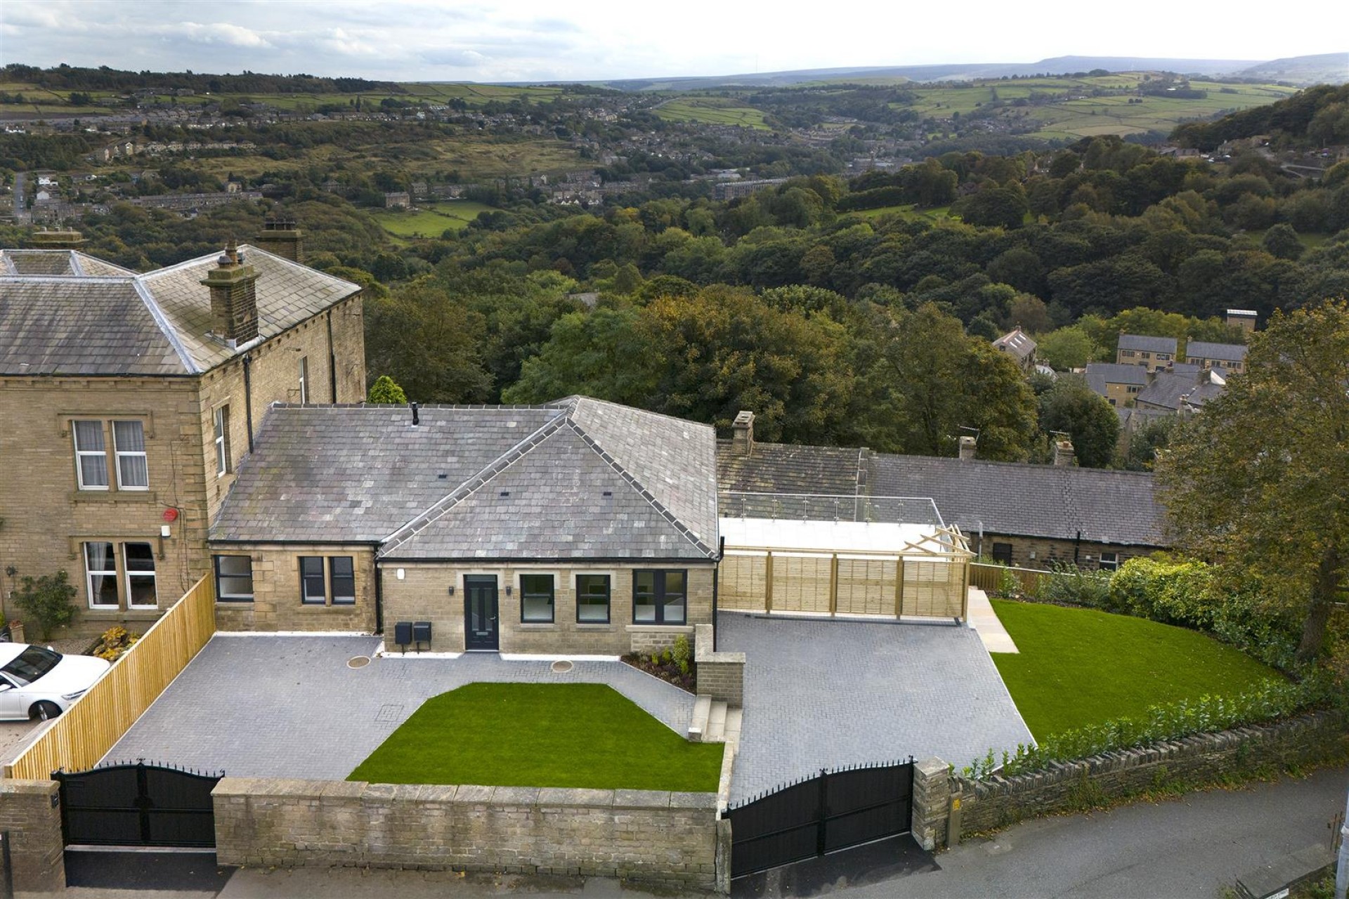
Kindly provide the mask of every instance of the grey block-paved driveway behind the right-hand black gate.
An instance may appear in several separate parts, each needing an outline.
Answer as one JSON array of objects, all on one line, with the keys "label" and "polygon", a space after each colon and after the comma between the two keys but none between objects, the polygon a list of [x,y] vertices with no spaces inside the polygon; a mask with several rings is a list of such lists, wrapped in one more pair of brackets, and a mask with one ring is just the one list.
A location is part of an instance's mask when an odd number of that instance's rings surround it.
[{"label": "grey block-paved driveway behind the right-hand black gate", "polygon": [[959,768],[1032,741],[967,627],[722,612],[716,643],[746,655],[733,802],[820,768],[911,755]]}]

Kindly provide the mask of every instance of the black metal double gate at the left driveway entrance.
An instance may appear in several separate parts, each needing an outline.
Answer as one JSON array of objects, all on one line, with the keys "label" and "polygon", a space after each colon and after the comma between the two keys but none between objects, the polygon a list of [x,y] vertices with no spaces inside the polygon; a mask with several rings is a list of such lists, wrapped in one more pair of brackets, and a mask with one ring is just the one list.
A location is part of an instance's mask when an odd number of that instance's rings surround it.
[{"label": "black metal double gate at the left driveway entrance", "polygon": [[51,775],[67,846],[201,848],[216,845],[210,791],[221,776],[144,762]]}]

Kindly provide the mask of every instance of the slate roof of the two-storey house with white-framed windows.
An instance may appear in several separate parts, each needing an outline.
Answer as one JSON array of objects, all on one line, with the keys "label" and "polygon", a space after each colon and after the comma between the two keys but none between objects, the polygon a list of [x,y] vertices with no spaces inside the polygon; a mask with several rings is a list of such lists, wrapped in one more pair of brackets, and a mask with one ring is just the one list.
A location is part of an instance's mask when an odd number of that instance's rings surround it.
[{"label": "slate roof of the two-storey house with white-framed windows", "polygon": [[[262,249],[258,330],[275,337],[360,287]],[[0,251],[0,375],[205,372],[247,349],[206,337],[219,253],[138,275],[70,249]]]}]

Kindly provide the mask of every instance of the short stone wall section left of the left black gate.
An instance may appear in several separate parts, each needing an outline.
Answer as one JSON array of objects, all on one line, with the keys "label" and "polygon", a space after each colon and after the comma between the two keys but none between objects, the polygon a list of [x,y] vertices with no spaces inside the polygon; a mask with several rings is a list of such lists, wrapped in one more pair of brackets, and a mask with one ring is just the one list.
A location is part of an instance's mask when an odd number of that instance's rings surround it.
[{"label": "short stone wall section left of the left black gate", "polygon": [[0,832],[8,834],[15,894],[66,888],[55,780],[0,780]]}]

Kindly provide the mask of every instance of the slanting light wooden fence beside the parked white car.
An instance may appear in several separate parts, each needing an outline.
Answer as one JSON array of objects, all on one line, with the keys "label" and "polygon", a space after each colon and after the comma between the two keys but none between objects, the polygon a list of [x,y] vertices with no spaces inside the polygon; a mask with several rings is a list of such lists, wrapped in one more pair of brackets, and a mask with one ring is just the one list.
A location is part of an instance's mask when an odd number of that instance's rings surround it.
[{"label": "slanting light wooden fence beside the parked white car", "polygon": [[7,764],[5,776],[45,780],[58,768],[92,768],[214,632],[216,589],[208,576],[174,602],[46,733]]}]

